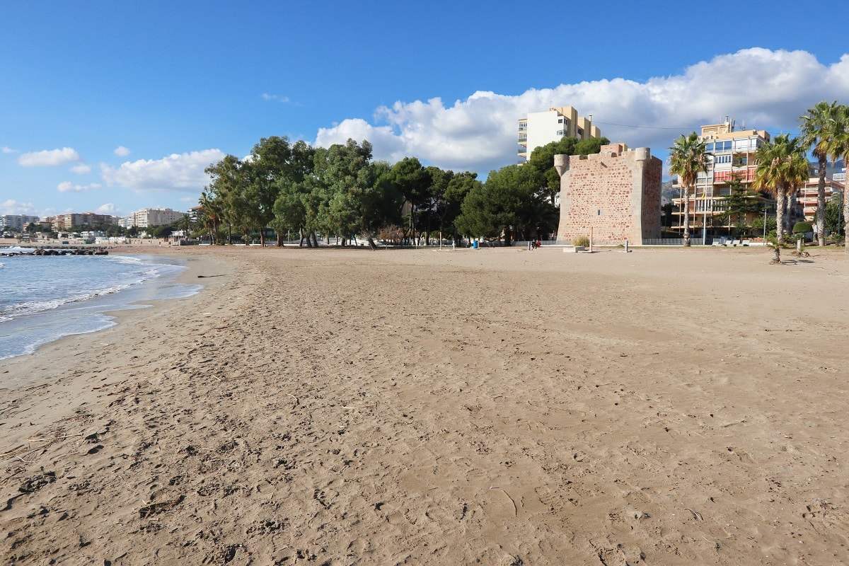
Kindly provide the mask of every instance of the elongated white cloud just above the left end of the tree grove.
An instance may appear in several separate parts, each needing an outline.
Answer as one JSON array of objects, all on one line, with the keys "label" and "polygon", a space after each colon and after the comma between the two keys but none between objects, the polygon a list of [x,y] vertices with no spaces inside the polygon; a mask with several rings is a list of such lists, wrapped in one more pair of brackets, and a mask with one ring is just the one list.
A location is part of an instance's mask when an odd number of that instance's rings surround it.
[{"label": "elongated white cloud just above the left end of the tree grove", "polygon": [[220,149],[204,149],[188,154],[171,154],[160,160],[127,161],[119,167],[101,164],[109,186],[145,191],[196,192],[210,181],[204,169],[224,158]]}]

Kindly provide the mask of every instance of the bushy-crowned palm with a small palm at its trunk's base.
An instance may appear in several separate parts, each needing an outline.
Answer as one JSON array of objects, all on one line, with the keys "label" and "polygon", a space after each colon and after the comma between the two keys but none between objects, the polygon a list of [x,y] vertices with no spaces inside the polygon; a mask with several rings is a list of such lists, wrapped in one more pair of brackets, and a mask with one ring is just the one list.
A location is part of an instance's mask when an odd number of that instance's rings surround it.
[{"label": "bushy-crowned palm with a small palm at its trunk's base", "polygon": [[775,195],[775,245],[773,263],[781,263],[781,245],[784,244],[784,203],[788,195],[804,185],[808,179],[809,165],[800,140],[781,134],[773,143],[765,143],[755,155],[755,181],[752,188]]}]

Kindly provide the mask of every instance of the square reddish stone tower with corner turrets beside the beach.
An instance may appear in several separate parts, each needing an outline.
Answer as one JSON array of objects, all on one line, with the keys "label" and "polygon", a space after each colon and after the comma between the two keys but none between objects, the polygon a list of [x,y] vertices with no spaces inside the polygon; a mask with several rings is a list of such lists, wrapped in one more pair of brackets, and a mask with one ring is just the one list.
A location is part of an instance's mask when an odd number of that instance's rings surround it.
[{"label": "square reddish stone tower with corner turrets beside the beach", "polygon": [[579,236],[593,244],[646,244],[661,237],[663,163],[649,148],[624,143],[602,146],[593,155],[555,155],[560,175],[557,239]]}]

